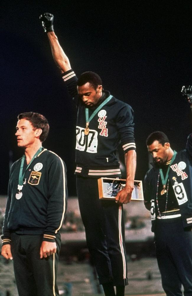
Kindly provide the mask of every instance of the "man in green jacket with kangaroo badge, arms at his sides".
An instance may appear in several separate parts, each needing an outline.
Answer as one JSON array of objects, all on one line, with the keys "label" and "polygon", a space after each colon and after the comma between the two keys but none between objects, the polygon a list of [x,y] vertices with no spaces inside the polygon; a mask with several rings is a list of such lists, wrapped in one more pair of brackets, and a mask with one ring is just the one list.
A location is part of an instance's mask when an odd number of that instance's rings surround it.
[{"label": "man in green jacket with kangaroo badge, arms at his sides", "polygon": [[58,296],[56,272],[66,212],[66,169],[42,147],[49,132],[38,113],[18,115],[16,137],[24,155],[10,169],[1,255],[13,259],[19,296]]}]

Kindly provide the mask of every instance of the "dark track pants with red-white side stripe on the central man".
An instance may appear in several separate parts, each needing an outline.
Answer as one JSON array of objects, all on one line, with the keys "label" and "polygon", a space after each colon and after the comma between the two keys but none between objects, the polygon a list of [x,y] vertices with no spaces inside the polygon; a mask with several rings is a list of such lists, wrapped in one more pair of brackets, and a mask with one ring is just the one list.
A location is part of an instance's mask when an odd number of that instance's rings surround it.
[{"label": "dark track pants with red-white side stripe on the central man", "polygon": [[77,195],[100,284],[127,285],[123,206],[99,199],[97,178],[77,176]]}]

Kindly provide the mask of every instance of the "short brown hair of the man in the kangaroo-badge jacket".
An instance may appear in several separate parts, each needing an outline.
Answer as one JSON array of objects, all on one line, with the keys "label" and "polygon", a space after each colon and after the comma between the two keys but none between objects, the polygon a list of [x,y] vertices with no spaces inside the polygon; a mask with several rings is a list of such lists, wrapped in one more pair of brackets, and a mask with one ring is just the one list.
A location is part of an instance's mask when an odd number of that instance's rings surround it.
[{"label": "short brown hair of the man in the kangaroo-badge jacket", "polygon": [[45,116],[35,112],[24,112],[17,116],[18,120],[29,120],[34,128],[41,128],[42,133],[39,137],[41,142],[44,142],[49,133],[49,123]]}]

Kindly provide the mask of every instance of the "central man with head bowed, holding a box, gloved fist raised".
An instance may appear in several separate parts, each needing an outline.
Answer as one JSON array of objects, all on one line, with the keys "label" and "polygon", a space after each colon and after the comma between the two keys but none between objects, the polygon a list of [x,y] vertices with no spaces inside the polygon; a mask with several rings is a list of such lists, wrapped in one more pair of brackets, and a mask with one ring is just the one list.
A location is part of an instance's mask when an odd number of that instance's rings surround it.
[{"label": "central man with head bowed, holding a box, gloved fist raised", "polygon": [[[102,87],[99,75],[85,72],[79,79],[53,31],[53,15],[40,16],[53,59],[62,73],[69,94],[77,104],[76,163],[77,195],[87,245],[105,295],[123,296],[127,280],[123,203],[134,188],[136,153],[132,108]],[[116,150],[125,153],[126,186],[115,201],[99,200],[97,179],[121,177]]]}]

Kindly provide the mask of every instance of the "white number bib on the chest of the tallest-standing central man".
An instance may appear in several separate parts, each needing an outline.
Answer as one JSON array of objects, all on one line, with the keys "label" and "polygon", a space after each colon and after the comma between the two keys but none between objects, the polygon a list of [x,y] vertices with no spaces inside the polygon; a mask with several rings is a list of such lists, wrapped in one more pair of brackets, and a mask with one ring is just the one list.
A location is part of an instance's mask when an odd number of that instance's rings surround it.
[{"label": "white number bib on the chest of the tallest-standing central man", "polygon": [[85,128],[76,126],[76,147],[75,149],[80,151],[86,151],[89,153],[97,153],[97,131],[89,130],[89,134],[85,136]]}]

